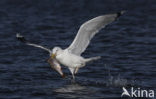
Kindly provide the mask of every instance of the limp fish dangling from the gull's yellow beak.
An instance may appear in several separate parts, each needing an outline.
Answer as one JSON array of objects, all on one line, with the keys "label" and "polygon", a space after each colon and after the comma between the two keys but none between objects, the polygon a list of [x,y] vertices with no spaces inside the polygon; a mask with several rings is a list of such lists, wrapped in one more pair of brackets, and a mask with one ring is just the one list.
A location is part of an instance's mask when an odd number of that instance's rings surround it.
[{"label": "limp fish dangling from the gull's yellow beak", "polygon": [[57,60],[54,58],[55,54],[48,59],[48,63],[50,64],[51,68],[54,69],[55,71],[57,71],[62,78],[65,78],[64,73],[62,72],[62,68],[60,66],[60,64],[57,62]]}]

